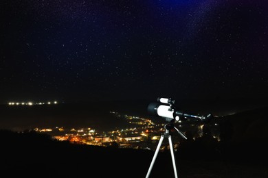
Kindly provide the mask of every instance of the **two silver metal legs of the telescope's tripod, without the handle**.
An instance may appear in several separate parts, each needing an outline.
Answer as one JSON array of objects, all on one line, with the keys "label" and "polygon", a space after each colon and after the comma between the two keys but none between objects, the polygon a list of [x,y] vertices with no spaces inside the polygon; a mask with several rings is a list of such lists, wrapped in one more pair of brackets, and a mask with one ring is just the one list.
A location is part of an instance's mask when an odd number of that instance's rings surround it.
[{"label": "two silver metal legs of the telescope's tripod, without the handle", "polygon": [[[167,135],[167,134],[168,134],[168,135]],[[157,154],[158,154],[158,152],[159,152],[159,149],[160,149],[160,147],[161,147],[161,144],[162,144],[162,142],[163,142],[163,140],[164,140],[164,138],[165,138],[166,136],[168,136],[168,142],[169,142],[169,146],[170,146],[170,153],[171,153],[171,157],[172,157],[172,164],[173,164],[173,169],[174,169],[175,178],[178,177],[178,175],[177,175],[177,166],[176,166],[176,162],[175,162],[175,154],[174,154],[174,149],[173,149],[173,144],[172,144],[172,138],[171,138],[171,136],[169,135],[168,130],[166,130],[166,133],[163,134],[163,135],[161,136],[160,140],[159,140],[159,143],[158,143],[158,145],[157,145],[157,149],[155,150],[155,155],[153,155],[153,160],[152,160],[152,162],[150,163],[150,167],[149,167],[149,169],[148,169],[146,178],[148,178],[149,175],[150,175],[150,171],[151,171],[152,168],[153,168],[153,164],[155,164],[155,159],[156,159],[156,157],[157,157]]]}]

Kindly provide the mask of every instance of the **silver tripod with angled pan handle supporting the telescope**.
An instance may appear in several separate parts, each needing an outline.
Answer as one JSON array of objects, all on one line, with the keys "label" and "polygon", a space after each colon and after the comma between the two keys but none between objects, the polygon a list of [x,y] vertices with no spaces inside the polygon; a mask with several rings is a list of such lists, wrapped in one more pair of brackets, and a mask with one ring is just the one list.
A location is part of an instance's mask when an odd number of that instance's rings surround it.
[{"label": "silver tripod with angled pan handle supporting the telescope", "polygon": [[172,158],[172,164],[173,164],[173,169],[174,169],[175,178],[178,177],[178,175],[177,175],[177,165],[176,165],[176,160],[175,160],[175,152],[174,152],[174,147],[173,147],[173,144],[172,144],[172,137],[171,137],[171,135],[170,135],[170,129],[172,129],[172,128],[175,128],[175,129],[178,131],[178,133],[179,133],[183,138],[187,139],[186,136],[185,136],[183,133],[181,133],[181,131],[179,131],[179,129],[177,129],[176,127],[174,127],[174,125],[173,125],[172,122],[166,124],[166,125],[165,125],[165,129],[166,129],[166,130],[165,130],[165,133],[162,133],[162,134],[161,134],[161,138],[160,138],[160,140],[159,140],[159,142],[158,142],[157,149],[155,150],[155,155],[153,155],[153,160],[152,160],[152,162],[150,163],[150,167],[149,167],[149,169],[148,169],[146,178],[148,178],[148,177],[150,176],[150,172],[151,172],[151,170],[152,170],[152,168],[153,168],[153,165],[155,164],[155,160],[156,160],[157,154],[158,154],[158,152],[159,152],[159,150],[160,150],[160,147],[161,147],[161,144],[162,144],[164,138],[168,138],[168,142],[169,142],[169,146],[170,146],[170,153],[171,153],[171,158]]}]

